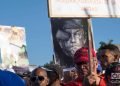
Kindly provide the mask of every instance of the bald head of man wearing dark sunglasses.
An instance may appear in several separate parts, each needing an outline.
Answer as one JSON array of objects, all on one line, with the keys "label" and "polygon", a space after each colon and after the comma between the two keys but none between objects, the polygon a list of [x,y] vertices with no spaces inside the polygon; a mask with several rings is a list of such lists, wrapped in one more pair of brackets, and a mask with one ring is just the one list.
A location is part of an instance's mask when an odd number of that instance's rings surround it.
[{"label": "bald head of man wearing dark sunglasses", "polygon": [[40,67],[32,71],[30,80],[32,86],[47,86],[49,83],[46,70]]}]

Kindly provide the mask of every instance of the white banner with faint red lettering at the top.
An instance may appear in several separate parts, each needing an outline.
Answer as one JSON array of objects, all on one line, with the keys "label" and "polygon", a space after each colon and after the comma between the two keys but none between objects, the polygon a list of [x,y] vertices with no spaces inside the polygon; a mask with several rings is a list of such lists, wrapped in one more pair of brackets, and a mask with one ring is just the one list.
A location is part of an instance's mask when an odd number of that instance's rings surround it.
[{"label": "white banner with faint red lettering at the top", "polygon": [[120,17],[120,0],[48,0],[50,17]]}]

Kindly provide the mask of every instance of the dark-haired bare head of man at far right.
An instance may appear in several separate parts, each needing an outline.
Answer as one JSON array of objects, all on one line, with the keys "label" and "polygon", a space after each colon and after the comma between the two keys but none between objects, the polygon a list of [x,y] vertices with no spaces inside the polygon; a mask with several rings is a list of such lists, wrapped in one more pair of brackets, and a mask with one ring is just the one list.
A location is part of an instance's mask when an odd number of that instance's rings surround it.
[{"label": "dark-haired bare head of man at far right", "polygon": [[106,44],[102,46],[98,52],[98,59],[101,61],[103,69],[112,62],[118,61],[120,58],[120,51],[117,46],[113,44]]}]

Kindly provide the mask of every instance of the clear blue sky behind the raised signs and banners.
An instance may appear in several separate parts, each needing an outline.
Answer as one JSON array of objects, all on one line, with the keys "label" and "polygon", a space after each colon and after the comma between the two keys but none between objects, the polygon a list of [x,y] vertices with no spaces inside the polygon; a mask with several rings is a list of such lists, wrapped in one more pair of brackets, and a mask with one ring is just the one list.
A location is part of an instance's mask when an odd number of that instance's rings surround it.
[{"label": "clear blue sky behind the raised signs and banners", "polygon": [[[0,0],[0,25],[26,28],[30,64],[43,65],[52,60],[53,43],[47,0]],[[96,48],[100,41],[120,43],[120,19],[92,19]]]}]

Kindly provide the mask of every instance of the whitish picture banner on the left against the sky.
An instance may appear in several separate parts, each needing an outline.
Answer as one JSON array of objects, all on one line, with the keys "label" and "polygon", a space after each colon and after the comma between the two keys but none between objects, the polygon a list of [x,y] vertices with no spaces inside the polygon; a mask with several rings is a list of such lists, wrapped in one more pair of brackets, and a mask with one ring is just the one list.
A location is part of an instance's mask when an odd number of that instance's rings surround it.
[{"label": "whitish picture banner on the left against the sky", "polygon": [[28,66],[25,28],[0,25],[2,67]]}]

